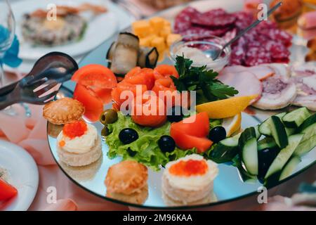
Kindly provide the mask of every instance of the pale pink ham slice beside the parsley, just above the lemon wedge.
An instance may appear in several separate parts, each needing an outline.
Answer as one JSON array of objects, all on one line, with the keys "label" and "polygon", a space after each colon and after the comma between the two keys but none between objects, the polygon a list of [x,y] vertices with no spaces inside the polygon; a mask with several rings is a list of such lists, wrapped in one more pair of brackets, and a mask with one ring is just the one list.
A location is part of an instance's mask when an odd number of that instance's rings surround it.
[{"label": "pale pink ham slice beside the parsley, just above the lemon wedge", "polygon": [[[261,96],[262,84],[258,78],[251,72],[223,72],[218,75],[220,82],[235,87],[239,91],[237,96],[250,96],[257,94],[258,98]],[[253,102],[258,101],[258,98]]]}]

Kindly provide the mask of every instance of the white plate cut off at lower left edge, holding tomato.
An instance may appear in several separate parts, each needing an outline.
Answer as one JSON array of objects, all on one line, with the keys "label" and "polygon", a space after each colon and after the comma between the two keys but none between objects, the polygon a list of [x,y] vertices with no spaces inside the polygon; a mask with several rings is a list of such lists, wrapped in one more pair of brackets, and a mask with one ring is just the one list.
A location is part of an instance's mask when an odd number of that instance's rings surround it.
[{"label": "white plate cut off at lower left edge, holding tomato", "polygon": [[4,208],[6,211],[26,211],[39,186],[39,171],[26,150],[0,140],[0,167],[8,170],[8,181],[18,189],[18,196]]}]

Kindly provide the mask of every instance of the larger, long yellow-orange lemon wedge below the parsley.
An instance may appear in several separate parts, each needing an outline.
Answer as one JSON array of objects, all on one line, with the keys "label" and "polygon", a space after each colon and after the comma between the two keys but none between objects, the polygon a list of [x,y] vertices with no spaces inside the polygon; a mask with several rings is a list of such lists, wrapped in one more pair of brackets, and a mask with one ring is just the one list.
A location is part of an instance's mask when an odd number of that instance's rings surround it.
[{"label": "larger, long yellow-orange lemon wedge below the parsley", "polygon": [[257,98],[258,95],[237,96],[218,101],[211,101],[196,106],[198,113],[206,112],[211,119],[222,119],[233,117],[241,113],[250,105],[251,100]]}]

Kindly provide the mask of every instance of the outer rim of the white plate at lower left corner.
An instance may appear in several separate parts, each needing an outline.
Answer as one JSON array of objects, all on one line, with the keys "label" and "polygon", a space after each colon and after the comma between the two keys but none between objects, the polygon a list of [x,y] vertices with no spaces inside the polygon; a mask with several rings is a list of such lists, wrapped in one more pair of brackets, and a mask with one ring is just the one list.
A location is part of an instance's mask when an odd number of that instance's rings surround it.
[{"label": "outer rim of the white plate at lower left corner", "polygon": [[[37,191],[39,191],[39,167],[37,165],[37,163],[35,162],[34,158],[32,157],[31,154],[29,154],[29,152],[27,150],[25,150],[25,148],[22,148],[21,146],[18,146],[17,144],[15,143],[11,143],[10,141],[6,141],[6,140],[3,140],[3,139],[0,139],[0,146],[2,146],[2,143],[4,143],[4,145],[7,145],[9,146],[9,148],[11,149],[15,149],[15,150],[18,150],[19,152],[22,152],[22,154],[25,154],[27,155],[27,157],[29,157],[29,162],[31,162],[33,165],[34,165],[34,168],[35,168],[35,186],[36,188],[34,188],[34,193],[32,195],[32,200],[29,201],[29,203],[27,204],[27,207],[24,207],[24,208],[19,208],[19,207],[15,207],[13,208],[13,210],[11,211],[27,211],[29,210],[29,207],[32,205],[32,203],[34,202],[34,199],[36,198],[37,196]],[[49,144],[48,144],[49,146]],[[49,147],[51,148],[51,147]],[[31,199],[31,198],[30,198]],[[4,211],[8,211],[8,208],[10,207],[10,205],[8,205],[7,207],[4,207]]]}]

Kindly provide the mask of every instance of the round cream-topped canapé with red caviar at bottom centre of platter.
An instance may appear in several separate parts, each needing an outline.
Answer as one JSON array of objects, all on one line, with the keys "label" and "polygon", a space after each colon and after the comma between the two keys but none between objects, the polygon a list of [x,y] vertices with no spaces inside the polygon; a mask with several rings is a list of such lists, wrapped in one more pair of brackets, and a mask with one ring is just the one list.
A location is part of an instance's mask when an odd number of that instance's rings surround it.
[{"label": "round cream-topped canap\u00e9 with red caviar at bottom centre of platter", "polygon": [[191,205],[210,196],[217,174],[215,162],[204,160],[202,155],[187,155],[166,164],[162,191],[175,202]]}]

